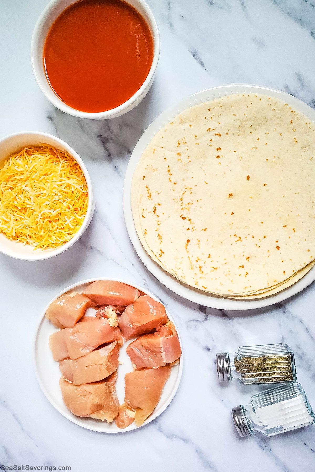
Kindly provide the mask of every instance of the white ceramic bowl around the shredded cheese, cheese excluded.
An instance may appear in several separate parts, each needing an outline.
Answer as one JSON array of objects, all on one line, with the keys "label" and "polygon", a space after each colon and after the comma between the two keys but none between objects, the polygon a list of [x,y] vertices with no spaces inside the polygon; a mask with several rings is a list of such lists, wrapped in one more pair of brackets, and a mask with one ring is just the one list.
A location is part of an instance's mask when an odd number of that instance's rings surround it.
[{"label": "white ceramic bowl around the shredded cheese, cheese excluded", "polygon": [[7,254],[8,256],[15,257],[16,259],[23,259],[26,261],[49,259],[50,257],[63,253],[66,249],[68,249],[68,247],[72,246],[72,244],[74,244],[80,236],[83,235],[85,229],[91,222],[95,208],[92,182],[83,160],[78,156],[77,152],[72,149],[72,147],[55,136],[47,135],[46,133],[35,133],[30,131],[26,133],[15,133],[0,139],[0,168],[3,167],[4,160],[6,160],[10,154],[19,151],[29,144],[38,146],[43,143],[54,146],[61,151],[68,152],[68,154],[70,154],[77,161],[85,176],[89,202],[85,219],[83,220],[83,223],[78,232],[72,237],[72,239],[70,239],[70,241],[68,241],[68,243],[62,244],[61,246],[54,249],[34,249],[34,247],[29,244],[24,246],[23,243],[13,241],[3,233],[0,233],[0,252]]}]

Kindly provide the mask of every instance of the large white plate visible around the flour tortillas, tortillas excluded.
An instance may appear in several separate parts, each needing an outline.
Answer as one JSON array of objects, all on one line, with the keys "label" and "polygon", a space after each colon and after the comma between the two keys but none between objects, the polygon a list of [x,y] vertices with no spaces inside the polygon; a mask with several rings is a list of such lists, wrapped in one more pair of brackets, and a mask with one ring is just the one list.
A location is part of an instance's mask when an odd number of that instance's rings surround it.
[{"label": "large white plate visible around the flour tortillas, tortillas excluded", "polygon": [[248,84],[229,84],[222,85],[220,87],[213,87],[211,89],[195,93],[194,95],[186,98],[174,107],[163,111],[163,113],[161,113],[160,116],[155,118],[151,125],[148,126],[144,134],[137,142],[136,147],[131,154],[126,171],[123,192],[123,206],[128,234],[134,248],[136,249],[136,253],[140,257],[141,261],[145,264],[145,267],[150,270],[154,277],[160,280],[162,284],[170,288],[170,290],[172,290],[176,294],[200,305],[210,306],[212,308],[219,308],[221,310],[251,310],[253,308],[260,308],[263,306],[272,305],[274,303],[279,303],[282,300],[285,300],[290,296],[295,295],[301,290],[303,290],[303,288],[307,287],[309,284],[314,282],[315,267],[313,267],[313,269],[311,269],[303,278],[301,278],[301,280],[296,282],[291,287],[268,298],[247,301],[230,300],[228,298],[223,298],[206,293],[200,293],[199,291],[196,291],[193,288],[190,288],[189,286],[181,283],[176,278],[173,278],[165,270],[163,270],[155,261],[153,261],[153,259],[151,259],[151,257],[148,255],[148,253],[145,251],[144,247],[140,243],[140,240],[136,233],[130,201],[133,173],[136,169],[136,165],[142,153],[144,152],[148,143],[150,143],[153,136],[156,135],[156,133],[158,133],[161,128],[163,128],[179,113],[182,113],[187,108],[192,107],[194,105],[199,105],[200,103],[204,103],[205,101],[223,97],[225,95],[231,95],[233,93],[262,93],[265,95],[270,95],[272,97],[280,98],[281,100],[284,100],[289,103],[295,109],[304,113],[309,119],[315,122],[315,110],[306,105],[306,103],[298,100],[295,97],[292,97],[292,95],[289,95],[289,93],[281,92],[280,90],[273,90],[268,87],[260,87],[257,85]]}]

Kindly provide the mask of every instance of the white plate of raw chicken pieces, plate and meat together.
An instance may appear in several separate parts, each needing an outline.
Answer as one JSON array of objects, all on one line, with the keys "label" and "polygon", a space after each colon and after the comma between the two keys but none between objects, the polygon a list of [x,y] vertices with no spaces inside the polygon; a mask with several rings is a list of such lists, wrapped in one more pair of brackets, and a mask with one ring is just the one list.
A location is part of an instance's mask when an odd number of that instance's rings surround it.
[{"label": "white plate of raw chicken pieces, plate and meat together", "polygon": [[176,324],[153,294],[123,280],[89,279],[45,308],[34,342],[51,404],[89,430],[135,430],[173,399],[182,372]]}]

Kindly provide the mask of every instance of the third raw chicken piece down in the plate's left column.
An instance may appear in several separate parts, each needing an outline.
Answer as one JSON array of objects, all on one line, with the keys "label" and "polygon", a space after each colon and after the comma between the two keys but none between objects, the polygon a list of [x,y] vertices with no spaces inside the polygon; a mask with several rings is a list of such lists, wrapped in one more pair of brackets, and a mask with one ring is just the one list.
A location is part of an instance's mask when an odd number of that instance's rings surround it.
[{"label": "third raw chicken piece down in the plate's left column", "polygon": [[78,359],[64,359],[59,362],[59,368],[64,378],[74,385],[98,382],[116,371],[118,354],[119,345],[114,341]]}]

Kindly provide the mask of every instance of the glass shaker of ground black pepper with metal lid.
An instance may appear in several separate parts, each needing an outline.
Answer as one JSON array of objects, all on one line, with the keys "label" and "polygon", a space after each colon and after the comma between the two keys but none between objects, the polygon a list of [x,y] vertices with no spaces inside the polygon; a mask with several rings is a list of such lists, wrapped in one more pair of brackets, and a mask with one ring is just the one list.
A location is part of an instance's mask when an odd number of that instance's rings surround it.
[{"label": "glass shaker of ground black pepper with metal lid", "polygon": [[295,382],[294,354],[286,344],[238,347],[236,353],[218,353],[219,380],[243,384]]}]

